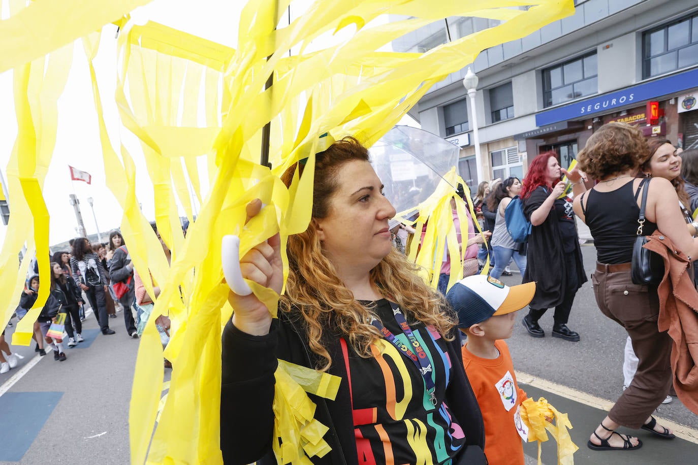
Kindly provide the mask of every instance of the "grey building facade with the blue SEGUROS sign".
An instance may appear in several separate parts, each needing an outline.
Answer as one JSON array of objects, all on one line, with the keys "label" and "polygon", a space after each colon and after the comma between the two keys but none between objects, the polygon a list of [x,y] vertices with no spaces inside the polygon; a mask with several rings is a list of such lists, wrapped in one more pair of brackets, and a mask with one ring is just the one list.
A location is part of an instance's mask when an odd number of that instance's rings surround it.
[{"label": "grey building facade with the blue SEGUROS sign", "polygon": [[[521,178],[528,160],[548,150],[567,167],[594,130],[609,121],[637,123],[647,137],[698,148],[698,3],[575,4],[573,16],[477,56],[474,109],[462,84],[466,67],[434,86],[410,112],[424,130],[461,146],[459,169],[471,189],[482,181],[475,170],[473,112],[485,181]],[[494,25],[449,18],[393,46],[424,51],[449,35],[454,39]]]}]

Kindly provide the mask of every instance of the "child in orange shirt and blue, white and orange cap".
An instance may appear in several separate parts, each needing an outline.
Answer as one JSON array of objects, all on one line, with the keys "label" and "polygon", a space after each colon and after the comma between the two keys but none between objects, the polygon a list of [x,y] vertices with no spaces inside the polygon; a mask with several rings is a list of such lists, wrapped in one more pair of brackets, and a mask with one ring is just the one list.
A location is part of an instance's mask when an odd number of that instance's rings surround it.
[{"label": "child in orange shirt and blue, white and orange cap", "polygon": [[474,275],[454,284],[446,295],[460,330],[468,335],[463,365],[482,411],[484,453],[491,464],[523,464],[521,440],[527,440],[528,428],[519,406],[527,396],[517,385],[504,340],[512,336],[514,312],[526,307],[533,294],[535,282],[508,287],[493,277]]}]

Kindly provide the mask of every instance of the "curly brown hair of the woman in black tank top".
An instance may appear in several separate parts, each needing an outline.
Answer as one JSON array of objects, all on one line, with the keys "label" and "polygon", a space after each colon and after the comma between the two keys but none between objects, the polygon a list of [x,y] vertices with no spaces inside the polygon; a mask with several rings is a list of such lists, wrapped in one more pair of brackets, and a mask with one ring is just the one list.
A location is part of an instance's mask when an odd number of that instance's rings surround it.
[{"label": "curly brown hair of the woman in black tank top", "polygon": [[579,168],[595,179],[628,169],[637,169],[650,156],[642,131],[628,123],[614,121],[594,132],[577,154]]}]

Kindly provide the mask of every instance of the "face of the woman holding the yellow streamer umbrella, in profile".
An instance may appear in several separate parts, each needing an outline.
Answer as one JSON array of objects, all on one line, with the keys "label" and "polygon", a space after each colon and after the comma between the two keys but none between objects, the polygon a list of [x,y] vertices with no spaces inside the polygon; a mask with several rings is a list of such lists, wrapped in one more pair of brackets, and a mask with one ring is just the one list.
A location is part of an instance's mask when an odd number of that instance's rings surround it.
[{"label": "face of the woman holding the yellow streamer umbrella, in profile", "polygon": [[315,220],[318,237],[337,268],[368,273],[392,250],[388,218],[395,208],[383,196],[383,184],[369,162],[347,162],[336,176],[327,218]]}]

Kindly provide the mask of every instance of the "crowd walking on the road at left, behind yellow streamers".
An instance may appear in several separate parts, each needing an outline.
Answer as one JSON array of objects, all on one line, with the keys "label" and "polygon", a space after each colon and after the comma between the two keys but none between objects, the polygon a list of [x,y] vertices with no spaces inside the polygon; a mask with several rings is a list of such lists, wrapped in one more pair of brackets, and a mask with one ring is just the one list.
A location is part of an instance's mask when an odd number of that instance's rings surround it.
[{"label": "crowd walking on the road at left, behind yellow streamers", "polygon": [[[151,223],[157,234],[155,223]],[[160,238],[158,234],[158,238]],[[124,326],[129,337],[138,339],[147,323],[153,300],[145,291],[142,280],[133,268],[131,256],[118,230],[109,234],[107,243],[90,243],[89,239],[80,237],[70,240],[70,251],[54,252],[50,257],[51,281],[50,295],[34,322],[36,341],[35,351],[40,356],[46,355],[46,349],[54,352],[54,360],[64,361],[67,356],[65,346],[73,347],[84,342],[82,323],[85,320],[84,304],[89,303],[103,335],[113,335],[110,319],[117,318],[117,308],[124,314]],[[170,250],[163,243],[165,255],[170,260]],[[34,306],[38,297],[40,282],[36,259],[31,264],[20,305],[15,310],[18,319],[24,318]],[[157,298],[160,288],[155,286]],[[60,314],[60,315],[59,315]],[[135,314],[135,317],[134,317]],[[9,325],[12,325],[10,319]],[[52,323],[63,323],[67,333],[67,344],[62,337],[51,336],[48,331]],[[158,331],[166,333],[169,339],[169,319],[158,318]],[[163,344],[167,340],[161,336]],[[8,354],[3,356],[3,351]],[[8,344],[0,342],[0,373],[6,373],[17,365],[21,356],[10,353]],[[172,365],[165,360],[165,366]]]}]

